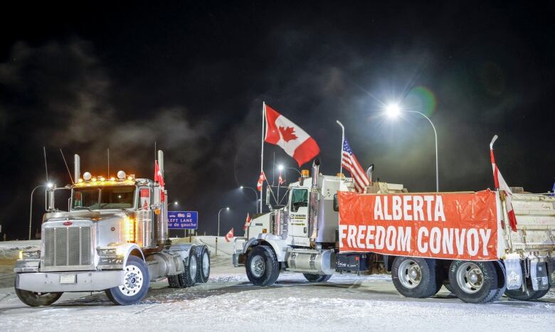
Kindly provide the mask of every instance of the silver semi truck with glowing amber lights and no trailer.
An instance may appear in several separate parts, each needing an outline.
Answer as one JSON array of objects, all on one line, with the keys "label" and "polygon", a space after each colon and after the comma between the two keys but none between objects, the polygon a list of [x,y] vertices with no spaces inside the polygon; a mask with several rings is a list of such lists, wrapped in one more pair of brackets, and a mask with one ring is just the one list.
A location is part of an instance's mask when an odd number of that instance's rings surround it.
[{"label": "silver semi truck with glowing amber lights and no trailer", "polygon": [[[105,291],[113,303],[129,305],[144,299],[150,282],[166,278],[181,288],[208,280],[206,245],[169,240],[163,151],[154,180],[125,171],[81,176],[77,154],[74,164],[75,183],[46,191],[40,250],[22,251],[16,261],[23,303],[48,306],[66,291]],[[70,191],[67,211],[55,207],[59,189]]]}]

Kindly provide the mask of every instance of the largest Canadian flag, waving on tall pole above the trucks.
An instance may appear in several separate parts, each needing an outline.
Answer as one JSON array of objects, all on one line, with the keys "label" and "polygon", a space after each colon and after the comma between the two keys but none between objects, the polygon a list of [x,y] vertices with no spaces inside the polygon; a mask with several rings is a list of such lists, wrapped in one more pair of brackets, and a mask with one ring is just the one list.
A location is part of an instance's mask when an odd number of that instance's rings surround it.
[{"label": "largest Canadian flag, waving on tall pole above the trucks", "polygon": [[281,146],[301,166],[317,156],[320,148],[316,141],[275,109],[265,105],[266,136],[264,141]]}]

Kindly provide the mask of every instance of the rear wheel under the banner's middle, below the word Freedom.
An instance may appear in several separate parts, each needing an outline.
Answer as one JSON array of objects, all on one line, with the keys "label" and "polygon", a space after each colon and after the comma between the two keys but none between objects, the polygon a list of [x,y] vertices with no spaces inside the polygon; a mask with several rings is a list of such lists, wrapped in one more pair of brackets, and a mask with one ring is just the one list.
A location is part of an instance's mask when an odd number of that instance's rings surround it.
[{"label": "rear wheel under the banner's middle, below the word Freedom", "polygon": [[442,282],[436,278],[435,260],[399,256],[393,260],[391,279],[401,295],[423,299],[435,295]]}]

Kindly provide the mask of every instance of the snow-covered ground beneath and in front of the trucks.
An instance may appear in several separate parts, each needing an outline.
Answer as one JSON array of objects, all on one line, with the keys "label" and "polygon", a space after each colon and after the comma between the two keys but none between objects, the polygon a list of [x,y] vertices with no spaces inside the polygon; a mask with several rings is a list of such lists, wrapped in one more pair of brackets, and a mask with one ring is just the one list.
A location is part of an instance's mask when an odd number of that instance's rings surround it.
[{"label": "snow-covered ground beneath and in front of the trucks", "polygon": [[[213,237],[199,240],[214,252]],[[221,239],[208,283],[169,289],[159,282],[134,306],[113,306],[103,293],[83,293],[30,308],[13,288],[1,288],[0,331],[553,331],[555,326],[553,291],[540,301],[502,298],[473,305],[445,289],[432,299],[403,298],[383,274],[338,274],[327,283],[309,284],[302,274],[283,273],[273,287],[253,287],[243,268],[231,267],[229,254],[231,244]]]}]

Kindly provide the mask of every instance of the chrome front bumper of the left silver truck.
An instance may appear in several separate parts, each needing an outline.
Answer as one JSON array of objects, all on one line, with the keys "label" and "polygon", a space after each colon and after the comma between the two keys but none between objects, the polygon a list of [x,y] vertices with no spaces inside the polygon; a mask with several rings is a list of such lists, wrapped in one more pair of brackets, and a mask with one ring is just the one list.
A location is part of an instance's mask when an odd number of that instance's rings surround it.
[{"label": "chrome front bumper of the left silver truck", "polygon": [[[60,283],[60,276],[75,275],[75,282]],[[124,272],[90,271],[90,272],[35,272],[16,274],[16,288],[26,291],[103,291],[123,284]]]}]

